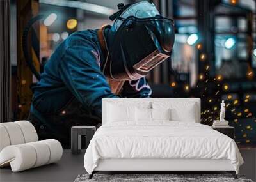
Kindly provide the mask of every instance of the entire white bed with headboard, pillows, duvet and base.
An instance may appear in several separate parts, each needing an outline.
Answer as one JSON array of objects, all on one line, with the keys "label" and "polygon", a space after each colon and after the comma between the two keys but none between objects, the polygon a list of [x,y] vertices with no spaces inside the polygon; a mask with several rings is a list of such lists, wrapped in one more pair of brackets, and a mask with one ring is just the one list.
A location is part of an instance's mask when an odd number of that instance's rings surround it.
[{"label": "entire white bed with headboard, pillows, duvet and base", "polygon": [[[133,121],[130,106],[162,115],[168,107],[175,121]],[[128,108],[122,121],[118,107]],[[200,124],[199,98],[104,98],[102,126],[84,155],[90,178],[97,171],[229,171],[237,178],[241,164],[234,140]]]}]

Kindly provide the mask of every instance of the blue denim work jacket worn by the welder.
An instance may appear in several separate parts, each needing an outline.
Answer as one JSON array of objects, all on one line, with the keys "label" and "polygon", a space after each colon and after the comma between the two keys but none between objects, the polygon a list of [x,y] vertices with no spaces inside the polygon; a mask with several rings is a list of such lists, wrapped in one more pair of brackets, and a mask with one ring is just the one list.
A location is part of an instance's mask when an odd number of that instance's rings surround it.
[{"label": "blue denim work jacket worn by the welder", "polygon": [[[71,98],[101,118],[102,98],[143,98],[151,95],[146,79],[126,81],[120,95],[111,88],[100,65],[105,61],[97,30],[77,31],[60,43],[33,87],[31,114],[37,118],[61,112]],[[38,116],[40,115],[40,116]]]}]

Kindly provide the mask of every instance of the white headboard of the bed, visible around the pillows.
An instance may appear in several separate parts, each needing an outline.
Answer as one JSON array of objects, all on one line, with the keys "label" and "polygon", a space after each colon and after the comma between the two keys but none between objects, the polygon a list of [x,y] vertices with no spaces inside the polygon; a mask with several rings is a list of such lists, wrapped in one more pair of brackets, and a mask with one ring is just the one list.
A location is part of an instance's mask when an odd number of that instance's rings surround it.
[{"label": "white headboard of the bed, visible around the pillows", "polygon": [[188,102],[188,103],[195,103],[196,105],[196,114],[197,119],[196,123],[200,123],[200,116],[201,116],[201,101],[200,98],[103,98],[102,99],[102,125],[106,123],[106,118],[108,114],[108,103],[113,102],[120,102],[120,103],[132,103],[136,105],[136,103],[150,103],[154,101],[163,101],[163,102],[172,102],[173,103],[179,103],[179,102]]}]

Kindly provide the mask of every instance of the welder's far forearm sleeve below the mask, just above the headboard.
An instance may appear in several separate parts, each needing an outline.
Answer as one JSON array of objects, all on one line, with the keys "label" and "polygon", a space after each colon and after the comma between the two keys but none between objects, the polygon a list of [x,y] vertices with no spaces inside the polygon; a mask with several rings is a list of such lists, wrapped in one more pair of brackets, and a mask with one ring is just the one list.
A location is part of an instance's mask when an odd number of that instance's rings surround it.
[{"label": "welder's far forearm sleeve below the mask, just above the headboard", "polygon": [[138,80],[126,81],[120,95],[127,98],[148,98],[152,90],[145,77]]}]

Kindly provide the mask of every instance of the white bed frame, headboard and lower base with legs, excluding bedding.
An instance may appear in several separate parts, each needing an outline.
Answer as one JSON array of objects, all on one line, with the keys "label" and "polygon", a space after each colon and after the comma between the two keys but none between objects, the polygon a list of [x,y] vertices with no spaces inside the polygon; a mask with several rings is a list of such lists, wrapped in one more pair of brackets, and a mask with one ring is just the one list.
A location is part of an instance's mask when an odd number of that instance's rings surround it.
[{"label": "white bed frame, headboard and lower base with legs, excluding bedding", "polygon": [[[102,125],[106,123],[107,103],[109,102],[154,102],[154,100],[163,100],[164,102],[195,102],[198,118],[196,123],[200,123],[200,98],[104,98],[102,100]],[[89,179],[92,179],[96,172],[150,172],[150,173],[170,173],[171,171],[226,171],[232,174],[237,179],[236,171],[230,160],[211,160],[211,159],[159,159],[159,158],[109,158],[99,160],[97,167],[90,174]]]}]

